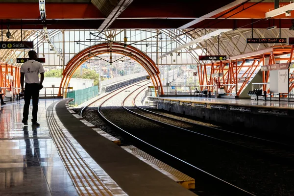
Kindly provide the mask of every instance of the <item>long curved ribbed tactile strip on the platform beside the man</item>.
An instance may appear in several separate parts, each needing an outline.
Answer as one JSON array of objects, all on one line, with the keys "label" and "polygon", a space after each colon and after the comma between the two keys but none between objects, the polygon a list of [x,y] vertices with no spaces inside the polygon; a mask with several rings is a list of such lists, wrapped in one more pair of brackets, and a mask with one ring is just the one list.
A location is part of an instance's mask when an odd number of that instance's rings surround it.
[{"label": "long curved ribbed tactile strip on the platform beside the man", "polygon": [[[55,102],[49,106],[47,122],[54,144],[78,194],[80,196],[127,196],[97,163],[95,163],[95,172],[83,159],[79,153],[81,150],[76,149],[79,144],[71,137],[59,119],[55,119],[57,116],[55,112],[56,104]],[[79,146],[79,148],[81,147]],[[95,161],[91,161],[92,165],[93,162]]]}]

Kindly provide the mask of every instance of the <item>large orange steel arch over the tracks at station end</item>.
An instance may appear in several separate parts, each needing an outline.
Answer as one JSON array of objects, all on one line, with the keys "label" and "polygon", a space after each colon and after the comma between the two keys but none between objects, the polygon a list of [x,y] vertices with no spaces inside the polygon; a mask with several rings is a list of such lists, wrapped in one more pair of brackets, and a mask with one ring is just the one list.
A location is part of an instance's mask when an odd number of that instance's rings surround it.
[{"label": "large orange steel arch over the tracks at station end", "polygon": [[159,77],[160,72],[156,67],[155,62],[147,54],[145,54],[143,51],[135,47],[124,47],[123,44],[111,42],[105,44],[98,44],[83,49],[67,63],[66,68],[62,73],[63,77],[60,82],[58,96],[61,96],[62,88],[67,89],[70,79],[73,76],[73,73],[81,64],[83,64],[86,60],[94,57],[95,55],[109,52],[124,54],[137,61],[150,75],[153,85],[160,86],[160,93],[163,94],[163,87]]}]

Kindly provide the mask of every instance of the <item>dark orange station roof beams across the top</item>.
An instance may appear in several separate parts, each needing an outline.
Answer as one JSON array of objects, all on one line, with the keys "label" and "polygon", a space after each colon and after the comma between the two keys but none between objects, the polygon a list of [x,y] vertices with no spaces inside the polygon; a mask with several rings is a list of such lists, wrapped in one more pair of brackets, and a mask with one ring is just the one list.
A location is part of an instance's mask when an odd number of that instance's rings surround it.
[{"label": "dark orange station roof beams across the top", "polygon": [[[1,0],[0,24],[11,29],[122,28],[282,28],[292,25],[285,14],[265,20],[273,0],[46,0],[42,23],[38,0]],[[290,0],[280,0],[280,6]],[[22,19],[22,21],[21,21]],[[84,19],[84,20],[81,20]],[[274,22],[275,21],[275,22]]]}]

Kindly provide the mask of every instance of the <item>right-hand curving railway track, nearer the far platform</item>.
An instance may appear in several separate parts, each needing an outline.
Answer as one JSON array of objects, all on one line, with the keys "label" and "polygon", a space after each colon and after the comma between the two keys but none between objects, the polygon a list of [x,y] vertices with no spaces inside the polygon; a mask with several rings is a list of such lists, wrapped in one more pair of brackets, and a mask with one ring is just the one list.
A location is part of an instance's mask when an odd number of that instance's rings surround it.
[{"label": "right-hand curving railway track, nearer the far platform", "polygon": [[[140,92],[141,93],[141,92]],[[139,93],[139,94],[140,94]],[[218,142],[224,143],[229,146],[243,147],[245,150],[251,150],[265,158],[278,158],[278,162],[281,161],[285,164],[292,165],[294,163],[294,146],[290,144],[284,144],[281,142],[271,141],[263,138],[253,137],[250,135],[240,134],[237,132],[227,131],[225,129],[206,126],[199,123],[187,122],[178,118],[173,118],[167,115],[159,114],[143,107],[139,107],[135,103],[135,99],[138,97],[137,94],[132,103],[136,109],[142,112],[136,112],[137,114],[143,115],[147,118],[154,119],[157,117],[157,121],[167,124],[177,125],[186,131],[193,131],[204,137],[217,140]],[[167,121],[168,119],[168,121]],[[174,122],[174,123],[171,123]],[[178,125],[180,122],[180,125]],[[185,127],[185,128],[183,128]]]}]

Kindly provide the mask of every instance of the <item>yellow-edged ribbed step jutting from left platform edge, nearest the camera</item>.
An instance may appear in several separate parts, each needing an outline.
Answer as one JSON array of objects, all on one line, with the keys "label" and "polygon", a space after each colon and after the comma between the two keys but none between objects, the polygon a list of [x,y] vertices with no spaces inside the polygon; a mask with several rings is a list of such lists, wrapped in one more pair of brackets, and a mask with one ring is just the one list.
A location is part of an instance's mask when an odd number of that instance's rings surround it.
[{"label": "yellow-edged ribbed step jutting from left platform edge, nearest the camera", "polygon": [[144,161],[155,170],[158,170],[159,172],[162,172],[163,174],[167,175],[172,180],[176,181],[186,189],[195,189],[194,178],[191,178],[190,176],[172,168],[171,166],[159,161],[158,159],[155,159],[154,157],[150,156],[149,154],[140,150],[137,147],[124,146],[122,148],[136,156],[138,159]]}]

